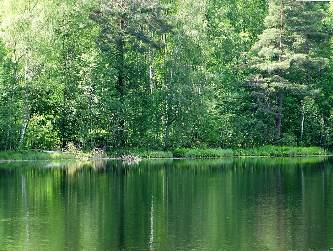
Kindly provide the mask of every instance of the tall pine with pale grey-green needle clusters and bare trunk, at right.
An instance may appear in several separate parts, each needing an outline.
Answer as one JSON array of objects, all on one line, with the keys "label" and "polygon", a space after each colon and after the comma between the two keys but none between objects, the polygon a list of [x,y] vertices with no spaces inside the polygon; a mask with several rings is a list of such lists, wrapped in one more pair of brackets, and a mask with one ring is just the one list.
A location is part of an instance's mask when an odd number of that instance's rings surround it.
[{"label": "tall pine with pale grey-green needle clusters and bare trunk, at right", "polygon": [[306,92],[307,87],[301,85],[302,80],[310,85],[311,69],[323,63],[310,57],[312,42],[324,36],[316,24],[316,20],[323,17],[323,11],[316,3],[269,1],[269,14],[265,18],[267,28],[252,47],[258,51],[258,57],[253,58],[253,66],[263,72],[252,76],[251,84],[261,89],[260,95],[277,96],[275,143],[280,138],[285,89]]}]

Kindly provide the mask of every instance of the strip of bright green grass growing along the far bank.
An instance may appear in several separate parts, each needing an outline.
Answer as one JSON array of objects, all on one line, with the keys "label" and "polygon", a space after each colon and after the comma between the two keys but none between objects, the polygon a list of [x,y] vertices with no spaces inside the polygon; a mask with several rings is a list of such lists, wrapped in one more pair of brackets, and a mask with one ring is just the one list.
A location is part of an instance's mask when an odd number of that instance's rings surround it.
[{"label": "strip of bright green grass growing along the far bank", "polygon": [[38,151],[3,151],[0,160],[61,160],[87,158],[121,158],[122,155],[134,155],[140,158],[213,158],[234,156],[295,156],[295,155],[327,155],[320,147],[276,147],[264,146],[248,149],[189,149],[179,148],[171,151],[123,150],[114,151],[105,156],[96,156],[92,152],[83,154],[43,153]]}]

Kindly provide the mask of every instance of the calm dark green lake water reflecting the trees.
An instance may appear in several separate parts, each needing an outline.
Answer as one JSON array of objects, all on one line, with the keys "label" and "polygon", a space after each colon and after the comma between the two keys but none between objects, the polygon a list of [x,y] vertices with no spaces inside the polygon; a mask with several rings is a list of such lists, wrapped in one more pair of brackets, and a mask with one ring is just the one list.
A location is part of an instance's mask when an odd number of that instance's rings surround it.
[{"label": "calm dark green lake water reflecting the trees", "polygon": [[333,250],[333,158],[0,163],[0,250]]}]

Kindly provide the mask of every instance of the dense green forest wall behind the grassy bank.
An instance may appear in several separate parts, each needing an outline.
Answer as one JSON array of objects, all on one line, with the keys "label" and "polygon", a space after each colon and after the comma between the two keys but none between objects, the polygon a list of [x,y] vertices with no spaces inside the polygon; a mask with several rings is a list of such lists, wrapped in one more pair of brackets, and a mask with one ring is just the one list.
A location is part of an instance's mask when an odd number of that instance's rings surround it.
[{"label": "dense green forest wall behind the grassy bank", "polygon": [[333,5],[0,0],[0,150],[333,148]]}]

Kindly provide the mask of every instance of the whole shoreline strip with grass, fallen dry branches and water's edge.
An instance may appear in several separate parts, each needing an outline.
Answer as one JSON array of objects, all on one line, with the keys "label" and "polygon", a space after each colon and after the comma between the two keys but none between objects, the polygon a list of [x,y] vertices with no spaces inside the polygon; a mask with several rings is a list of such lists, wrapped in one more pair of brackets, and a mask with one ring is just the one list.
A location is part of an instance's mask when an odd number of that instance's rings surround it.
[{"label": "whole shoreline strip with grass, fallen dry branches and water's edge", "polygon": [[[44,151],[44,150],[43,150]],[[321,147],[278,147],[264,146],[247,149],[222,148],[176,148],[169,151],[122,149],[102,152],[64,151],[63,153],[48,153],[41,150],[1,151],[1,162],[27,161],[27,160],[128,160],[142,159],[198,159],[198,158],[235,158],[235,157],[304,157],[304,156],[330,156],[331,152]]]}]

